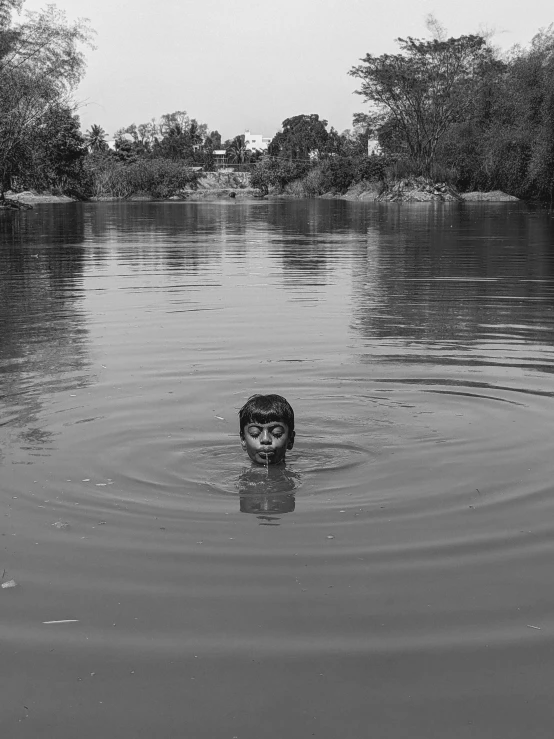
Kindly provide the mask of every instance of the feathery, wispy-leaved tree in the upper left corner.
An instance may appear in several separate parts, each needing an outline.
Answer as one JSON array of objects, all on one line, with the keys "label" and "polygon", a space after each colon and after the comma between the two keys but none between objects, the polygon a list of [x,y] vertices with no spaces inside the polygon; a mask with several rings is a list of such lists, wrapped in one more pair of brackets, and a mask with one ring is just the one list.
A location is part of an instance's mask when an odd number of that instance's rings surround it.
[{"label": "feathery, wispy-leaved tree in the upper left corner", "polygon": [[90,45],[86,21],[73,24],[53,5],[13,23],[22,0],[0,0],[0,197],[33,141],[33,130],[54,108],[67,107]]}]

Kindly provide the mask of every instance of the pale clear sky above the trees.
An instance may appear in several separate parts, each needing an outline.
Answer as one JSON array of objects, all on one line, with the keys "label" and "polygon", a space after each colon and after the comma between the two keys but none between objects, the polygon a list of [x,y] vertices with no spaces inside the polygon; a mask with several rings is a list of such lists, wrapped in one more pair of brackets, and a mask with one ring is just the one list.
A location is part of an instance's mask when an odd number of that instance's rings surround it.
[{"label": "pale clear sky above the trees", "polygon": [[[349,69],[395,39],[492,31],[501,49],[527,45],[554,21],[546,0],[57,0],[86,17],[95,50],[76,91],[83,130],[112,137],[131,123],[185,110],[223,139],[272,137],[284,119],[317,113],[339,132],[367,110]],[[26,0],[38,10],[46,0]]]}]

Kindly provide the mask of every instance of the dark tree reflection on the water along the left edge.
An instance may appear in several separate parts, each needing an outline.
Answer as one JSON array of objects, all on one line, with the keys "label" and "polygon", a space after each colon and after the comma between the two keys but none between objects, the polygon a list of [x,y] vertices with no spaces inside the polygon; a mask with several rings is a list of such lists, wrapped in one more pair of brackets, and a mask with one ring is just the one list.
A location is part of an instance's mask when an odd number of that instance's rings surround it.
[{"label": "dark tree reflection on the water along the left edge", "polygon": [[78,205],[0,214],[2,425],[23,448],[51,450],[38,416],[50,393],[84,387],[83,211]]}]

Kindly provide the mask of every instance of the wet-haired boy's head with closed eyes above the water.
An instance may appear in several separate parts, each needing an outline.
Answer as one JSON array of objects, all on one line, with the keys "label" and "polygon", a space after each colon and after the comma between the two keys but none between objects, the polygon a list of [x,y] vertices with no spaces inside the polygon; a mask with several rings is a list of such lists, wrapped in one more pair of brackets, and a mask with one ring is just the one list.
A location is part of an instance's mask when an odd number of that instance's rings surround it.
[{"label": "wet-haired boy's head with closed eyes above the water", "polygon": [[294,446],[294,411],[281,395],[252,395],[239,421],[242,448],[253,462],[278,464]]}]

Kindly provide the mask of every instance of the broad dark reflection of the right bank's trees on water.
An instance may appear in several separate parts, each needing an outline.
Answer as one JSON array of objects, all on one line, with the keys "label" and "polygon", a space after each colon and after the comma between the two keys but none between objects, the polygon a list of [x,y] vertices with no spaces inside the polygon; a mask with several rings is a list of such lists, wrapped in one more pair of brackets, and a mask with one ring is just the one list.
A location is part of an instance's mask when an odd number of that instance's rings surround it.
[{"label": "broad dark reflection of the right bank's trees on water", "polygon": [[368,339],[403,346],[487,341],[502,326],[504,336],[515,331],[553,343],[544,321],[554,307],[545,291],[554,280],[553,240],[552,221],[520,205],[492,213],[472,205],[381,205],[354,278],[354,325]]}]

